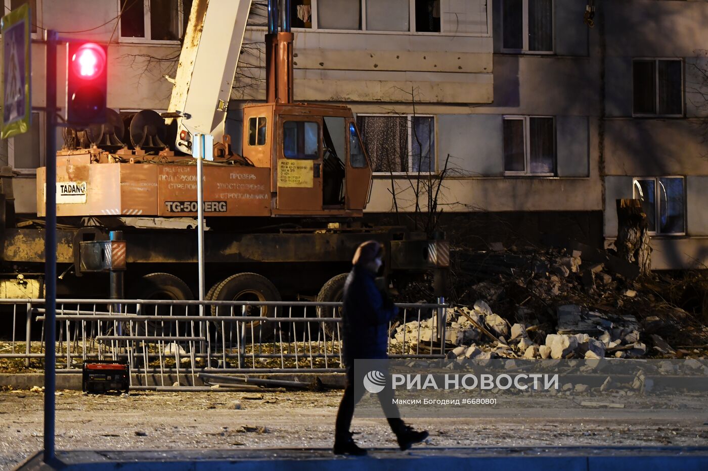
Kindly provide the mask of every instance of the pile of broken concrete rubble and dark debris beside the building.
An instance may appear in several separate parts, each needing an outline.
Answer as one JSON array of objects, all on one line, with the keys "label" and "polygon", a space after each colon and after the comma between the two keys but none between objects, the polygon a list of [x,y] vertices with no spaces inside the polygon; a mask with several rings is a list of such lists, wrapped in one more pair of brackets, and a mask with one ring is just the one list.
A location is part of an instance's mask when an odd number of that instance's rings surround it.
[{"label": "pile of broken concrete rubble and dark debris beside the building", "polygon": [[[600,359],[708,353],[708,327],[665,301],[661,288],[668,281],[661,276],[640,281],[636,266],[610,252],[578,248],[458,250],[451,287],[456,307],[447,309],[445,325],[448,356]],[[396,326],[392,344],[439,346],[437,318]]]}]

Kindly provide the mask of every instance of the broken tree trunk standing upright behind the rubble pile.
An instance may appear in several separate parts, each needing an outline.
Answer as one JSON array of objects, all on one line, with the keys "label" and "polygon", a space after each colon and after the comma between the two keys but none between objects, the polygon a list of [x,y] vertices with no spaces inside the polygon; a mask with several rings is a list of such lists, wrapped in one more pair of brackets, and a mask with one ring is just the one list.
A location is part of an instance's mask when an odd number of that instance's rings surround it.
[{"label": "broken tree trunk standing upright behind the rubble pile", "polygon": [[639,265],[639,276],[651,273],[649,223],[639,199],[617,199],[617,255]]}]

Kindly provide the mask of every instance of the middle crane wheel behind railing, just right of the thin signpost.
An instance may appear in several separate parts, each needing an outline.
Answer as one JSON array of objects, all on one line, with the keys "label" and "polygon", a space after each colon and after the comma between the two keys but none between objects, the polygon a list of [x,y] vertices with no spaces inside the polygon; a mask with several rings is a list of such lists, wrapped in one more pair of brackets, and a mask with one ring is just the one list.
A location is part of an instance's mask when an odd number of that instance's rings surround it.
[{"label": "middle crane wheel behind railing, just right of the thin signpost", "polygon": [[[212,301],[280,301],[280,293],[273,283],[267,278],[256,273],[238,273],[224,279],[212,293]],[[276,308],[274,306],[215,306],[212,308],[212,315],[234,315],[253,317],[275,317]],[[232,314],[233,313],[233,314]],[[223,325],[225,342],[236,344],[238,332],[236,322],[217,322],[217,330],[221,334]],[[239,326],[244,325],[238,322]],[[273,337],[273,324],[253,320],[245,324],[246,332],[244,340],[246,342],[259,342]]]}]

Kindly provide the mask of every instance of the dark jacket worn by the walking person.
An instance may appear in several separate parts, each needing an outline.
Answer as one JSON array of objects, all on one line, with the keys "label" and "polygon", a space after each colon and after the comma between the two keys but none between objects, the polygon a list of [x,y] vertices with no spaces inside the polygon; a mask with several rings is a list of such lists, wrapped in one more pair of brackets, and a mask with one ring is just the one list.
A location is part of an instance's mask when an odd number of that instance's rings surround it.
[{"label": "dark jacket worn by the walking person", "polygon": [[365,267],[355,265],[344,284],[343,359],[387,358],[389,322],[398,314],[388,296],[376,286],[375,277]]}]

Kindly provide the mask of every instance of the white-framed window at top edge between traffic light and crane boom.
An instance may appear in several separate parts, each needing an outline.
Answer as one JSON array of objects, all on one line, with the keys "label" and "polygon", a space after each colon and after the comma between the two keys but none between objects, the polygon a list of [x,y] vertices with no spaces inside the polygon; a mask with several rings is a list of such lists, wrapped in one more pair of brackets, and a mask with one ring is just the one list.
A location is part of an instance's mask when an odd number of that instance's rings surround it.
[{"label": "white-framed window at top edge between traffic light and crane boom", "polygon": [[178,41],[193,0],[120,0],[124,40]]}]

